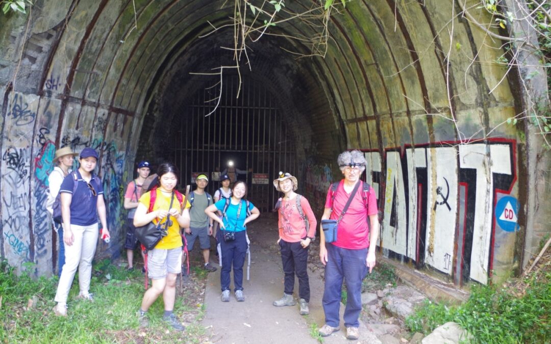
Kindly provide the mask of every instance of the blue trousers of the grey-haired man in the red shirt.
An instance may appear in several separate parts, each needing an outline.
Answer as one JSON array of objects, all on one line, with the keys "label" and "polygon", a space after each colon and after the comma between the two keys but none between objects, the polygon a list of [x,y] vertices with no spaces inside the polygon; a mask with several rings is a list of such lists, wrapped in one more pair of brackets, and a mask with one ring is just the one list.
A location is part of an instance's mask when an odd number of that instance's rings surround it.
[{"label": "blue trousers of the grey-haired man in the red shirt", "polygon": [[339,327],[339,307],[343,279],[347,288],[347,303],[344,308],[344,326],[358,327],[361,312],[361,281],[368,272],[366,258],[368,249],[345,249],[326,243],[327,264],[325,266],[325,289],[323,290],[323,312],[325,323]]}]

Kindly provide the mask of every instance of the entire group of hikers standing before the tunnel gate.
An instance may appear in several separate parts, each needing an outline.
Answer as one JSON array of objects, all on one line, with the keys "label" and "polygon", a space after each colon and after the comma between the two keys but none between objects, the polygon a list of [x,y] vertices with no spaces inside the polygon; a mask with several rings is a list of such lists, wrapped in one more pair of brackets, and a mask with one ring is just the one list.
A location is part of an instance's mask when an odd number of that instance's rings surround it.
[{"label": "entire group of hikers standing before the tunnel gate", "polygon": [[[73,172],[71,168],[76,156],[79,156],[78,169]],[[99,236],[98,217],[102,238],[110,235],[104,190],[100,178],[94,173],[98,159],[98,153],[91,148],[83,149],[80,154],[68,147],[58,149],[54,158],[57,166],[48,177],[50,196],[46,208],[53,215],[54,229],[60,241],[57,304],[53,308],[58,316],[67,315],[67,297],[77,268],[80,288],[77,298],[94,300],[89,287],[91,262]],[[325,324],[318,329],[318,333],[329,336],[339,330],[344,281],[348,293],[343,315],[346,337],[355,340],[359,337],[361,282],[376,263],[379,221],[374,189],[360,180],[365,170],[364,155],[357,150],[344,151],[338,156],[337,163],[344,178],[327,190],[321,217],[320,260],[325,265],[322,298]],[[186,278],[189,272],[189,268],[183,266],[183,254],[191,252],[198,238],[203,268],[209,272],[216,271],[209,256],[209,236],[215,236],[221,262],[221,300],[230,301],[230,273],[233,270],[235,299],[244,302],[243,267],[249,247],[246,229],[248,223],[260,216],[260,211],[246,199],[247,184],[236,180],[235,169],[231,171],[233,178],[228,170],[222,172],[221,187],[214,196],[206,192],[206,174],[199,174],[196,189],[186,197],[176,190],[179,171],[173,163],[161,163],[152,176],[150,167],[147,161],[138,163],[138,176],[128,183],[123,204],[129,210],[125,240],[129,270],[134,268],[133,253],[140,244],[136,228],[151,222],[166,228],[166,233],[152,249],[141,250],[144,269],[147,269],[152,286],[145,291],[137,316],[140,326],[148,326],[148,309],[162,294],[163,320],[175,330],[183,331],[185,327],[173,313],[177,276],[182,274]],[[315,240],[317,220],[309,201],[295,193],[298,189],[296,177],[280,172],[273,185],[283,194],[276,209],[277,243],[284,271],[283,296],[273,305],[296,304],[293,297],[296,276],[299,280],[299,313],[306,315],[309,314],[310,302],[308,249]],[[61,209],[61,216],[58,216],[61,219],[58,220],[56,207]]]}]

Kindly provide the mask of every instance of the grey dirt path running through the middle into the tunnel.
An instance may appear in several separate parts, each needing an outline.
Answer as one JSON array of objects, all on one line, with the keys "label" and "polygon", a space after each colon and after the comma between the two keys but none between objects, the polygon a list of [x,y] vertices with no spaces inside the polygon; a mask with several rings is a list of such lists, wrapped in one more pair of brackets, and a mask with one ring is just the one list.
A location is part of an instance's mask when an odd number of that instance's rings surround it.
[{"label": "grey dirt path running through the middle into the tunnel", "polygon": [[[220,301],[220,269],[209,274],[204,298],[206,315],[202,325],[209,327],[212,342],[317,342],[315,337],[317,328],[325,321],[321,306],[323,281],[320,275],[323,270],[317,269],[314,272],[309,270],[310,315],[301,316],[298,304],[294,307],[274,307],[272,302],[283,294],[283,272],[276,244],[278,238],[276,228],[275,214],[262,214],[261,219],[251,223],[248,229],[251,238],[251,278],[250,281],[246,280],[247,263],[245,263],[245,302],[236,302],[233,292],[230,302]],[[214,259],[215,257],[211,260]],[[315,256],[311,256],[311,259],[315,259]],[[218,264],[215,266],[218,267]],[[297,293],[298,281],[295,282],[295,298]],[[344,335],[345,329],[341,325],[341,331],[325,338],[324,342],[348,342]],[[372,342],[370,341],[372,339],[374,338],[371,337],[365,325],[361,324],[360,342]]]}]

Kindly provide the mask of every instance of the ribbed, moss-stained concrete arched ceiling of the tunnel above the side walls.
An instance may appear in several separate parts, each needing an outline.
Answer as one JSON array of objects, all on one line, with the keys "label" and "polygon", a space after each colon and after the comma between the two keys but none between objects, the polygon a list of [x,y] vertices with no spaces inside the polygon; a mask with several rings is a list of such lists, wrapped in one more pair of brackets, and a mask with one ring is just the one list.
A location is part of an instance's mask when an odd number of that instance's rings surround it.
[{"label": "ribbed, moss-stained concrete arched ceiling of the tunnel above the side walls", "polygon": [[[153,82],[162,78],[159,76],[165,75],[163,68],[170,65],[170,59],[182,53],[198,57],[196,71],[223,65],[215,61],[222,54],[212,52],[220,46],[231,46],[231,37],[223,30],[203,39],[198,36],[212,30],[209,23],[230,24],[233,6],[226,3],[221,8],[223,1],[138,1],[135,4],[137,28],[132,1],[79,1],[71,4],[68,13],[59,12],[71,17],[38,88],[45,88],[46,75],[59,73],[61,80],[67,80],[63,89],[65,97],[84,99],[90,104],[99,102],[139,116],[144,113],[147,91],[152,89]],[[304,12],[307,9],[304,4],[311,6],[309,2],[293,2],[287,7]],[[48,10],[52,5],[44,6],[44,10]],[[448,138],[458,136],[449,119],[440,121],[438,117],[425,116],[441,113],[442,118],[450,117],[450,108],[456,116],[462,111],[474,110],[473,128],[458,128],[469,136],[480,127],[489,129],[489,113],[501,111],[495,109],[496,106],[507,105],[512,111],[513,103],[506,83],[487,96],[488,90],[503,78],[503,68],[476,63],[476,60],[472,63],[473,59],[488,62],[497,58],[501,54],[497,48],[480,50],[484,45],[497,46],[497,42],[472,30],[461,18],[453,20],[455,27],[450,41],[446,32],[449,29],[445,28],[457,10],[447,2],[436,5],[353,1],[342,14],[333,13],[331,17],[332,39],[326,58],[297,61],[292,54],[273,47],[302,53],[309,51],[309,47],[282,36],[265,36],[254,50],[261,54],[261,61],[266,58],[277,61],[272,67],[281,68],[278,72],[287,73],[287,64],[298,70],[296,77],[311,79],[312,84],[318,85],[328,99],[331,112],[337,116],[334,123],[338,125],[342,121],[348,139],[366,148],[391,143],[402,145],[415,141],[416,137],[420,141],[426,141],[428,136],[434,136],[430,137],[431,141],[439,140],[438,130],[434,135],[426,133],[427,125],[444,127]],[[80,13],[87,16],[82,17]],[[296,36],[297,32],[304,36],[316,33],[298,20],[274,30],[288,36]],[[442,34],[444,32],[446,34]],[[210,51],[204,50],[204,40],[209,42],[207,45],[212,44]],[[449,65],[445,59],[448,52]],[[190,72],[194,69],[191,65],[184,67]],[[448,92],[452,95],[451,101]],[[383,118],[388,121],[377,123]],[[368,130],[370,137],[363,137],[358,123],[371,125],[371,119],[375,125]],[[434,121],[439,123],[432,123]],[[417,126],[422,129],[416,130]],[[397,131],[401,133],[396,134]]]}]

